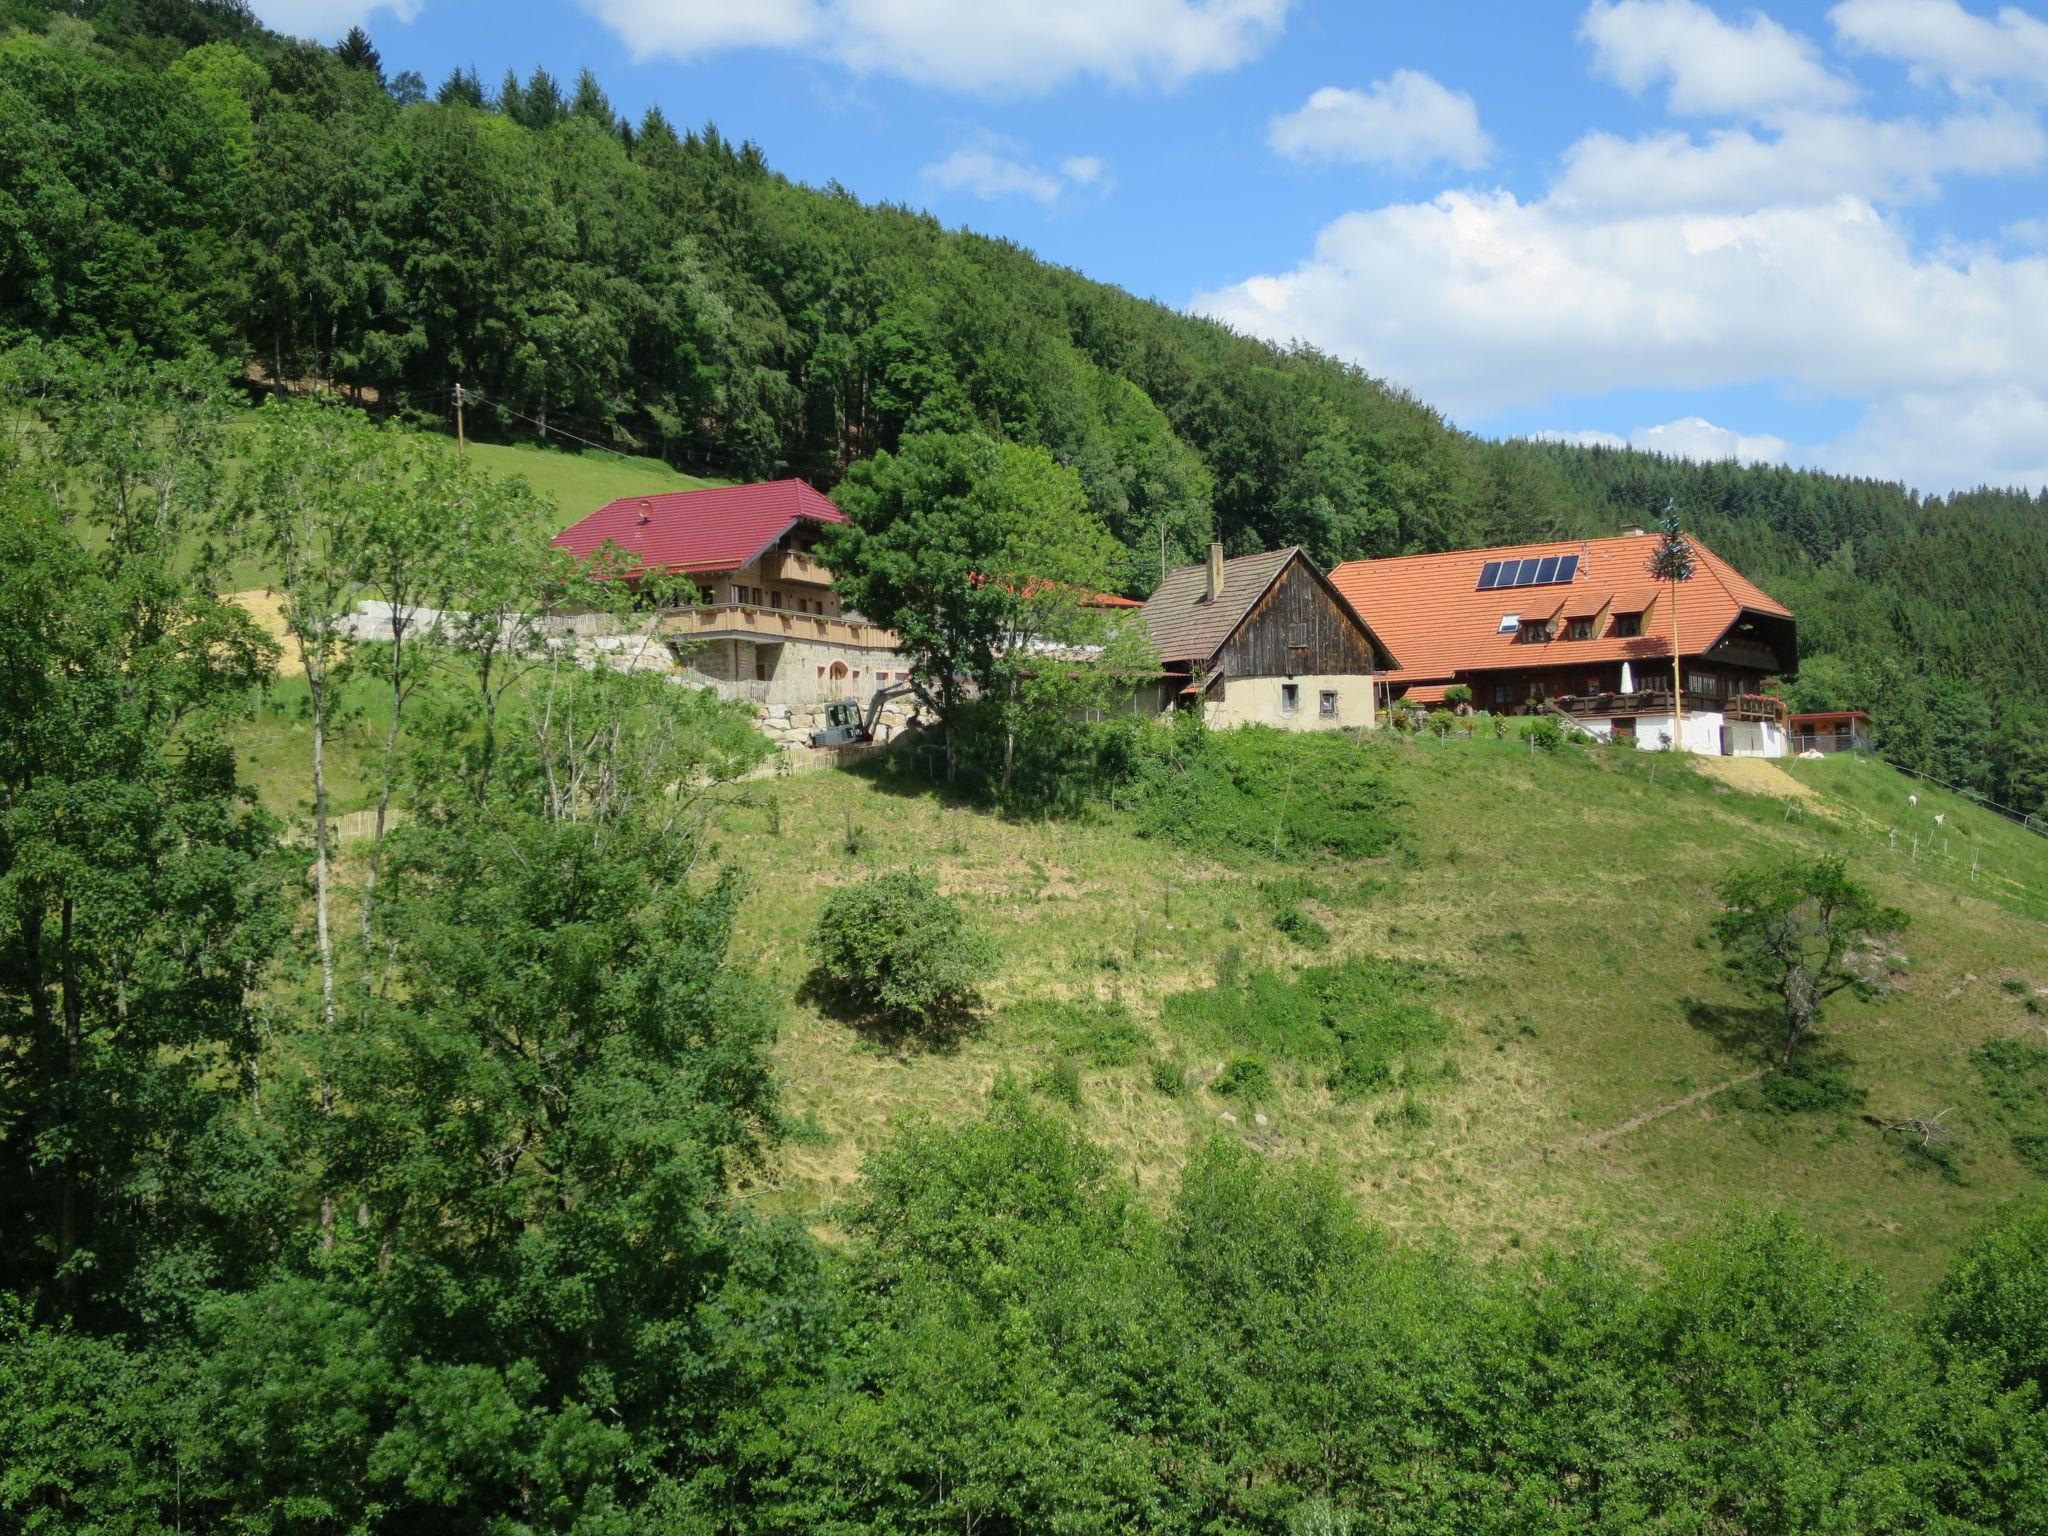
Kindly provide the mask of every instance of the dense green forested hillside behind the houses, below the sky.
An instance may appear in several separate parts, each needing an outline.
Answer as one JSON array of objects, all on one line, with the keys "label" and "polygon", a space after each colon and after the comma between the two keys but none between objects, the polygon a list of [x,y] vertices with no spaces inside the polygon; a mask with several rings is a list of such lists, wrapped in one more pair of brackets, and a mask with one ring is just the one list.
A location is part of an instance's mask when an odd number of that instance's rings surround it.
[{"label": "dense green forested hillside behind the houses, below the sky", "polygon": [[[903,434],[1067,459],[1149,590],[1212,535],[1321,561],[1606,532],[1675,496],[1800,614],[1808,705],[2048,801],[2048,516],[2023,494],[1497,444],[752,143],[623,121],[596,78],[438,86],[240,0],[0,0],[0,346],[203,352],[444,426],[573,432],[829,487]],[[674,102],[688,117],[688,102]]]}]

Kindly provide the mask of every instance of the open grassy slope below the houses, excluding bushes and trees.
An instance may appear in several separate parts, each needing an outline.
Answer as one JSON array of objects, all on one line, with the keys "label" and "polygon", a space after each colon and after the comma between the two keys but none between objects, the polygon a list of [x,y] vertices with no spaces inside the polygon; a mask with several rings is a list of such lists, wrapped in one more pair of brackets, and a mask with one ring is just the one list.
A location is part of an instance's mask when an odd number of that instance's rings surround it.
[{"label": "open grassy slope below the houses, excluding bushes and trees", "polygon": [[[1606,1229],[1638,1245],[1763,1202],[1798,1212],[1911,1294],[1966,1225],[2032,1178],[1991,1128],[1968,1051],[2040,1028],[1999,983],[2048,989],[2048,840],[1956,805],[1946,854],[1894,856],[1870,811],[1905,815],[1909,786],[1874,762],[1800,764],[1821,797],[1788,801],[1649,754],[1542,758],[1493,741],[1393,752],[1413,846],[1372,866],[1313,870],[1331,893],[1317,911],[1337,932],[1333,954],[1438,969],[1462,1079],[1430,1087],[1430,1124],[1403,1128],[1374,1124],[1386,1100],[1335,1104],[1282,1069],[1262,1128],[1249,1108],[1206,1090],[1159,1094],[1143,1063],[1092,1069],[1081,1116],[1143,1182],[1157,1184],[1233,1110],[1235,1133],[1276,1155],[1335,1159],[1376,1217],[1415,1235],[1448,1229],[1499,1251]],[[868,868],[932,868],[1004,948],[993,1020],[956,1053],[866,1040],[791,1004],[780,1063],[801,1133],[766,1182],[770,1200],[807,1214],[823,1214],[907,1116],[967,1114],[997,1071],[1032,1077],[1059,1055],[1042,1026],[1006,1016],[1008,1004],[1118,995],[1163,1038],[1159,999],[1204,985],[1227,948],[1251,965],[1327,958],[1270,928],[1251,881],[1278,866],[1176,856],[1114,821],[1006,823],[918,784],[848,772],[758,784],[750,799],[727,815],[725,852],[756,874],[743,948],[776,991],[797,997],[819,903]],[[1931,825],[1935,809],[1946,807],[1923,795],[1917,815]],[[848,825],[864,829],[858,856],[844,852]],[[1905,987],[1878,1004],[1837,1004],[1831,1028],[1872,1112],[1956,1106],[1960,1180],[1855,1118],[1772,1116],[1741,1108],[1739,1092],[1688,1102],[1757,1065],[1688,1022],[1688,999],[1737,1001],[1696,940],[1712,881],[1731,858],[1767,848],[1843,852],[1913,913]],[[1214,1071],[1221,1053],[1210,1047],[1194,1065]]]}]

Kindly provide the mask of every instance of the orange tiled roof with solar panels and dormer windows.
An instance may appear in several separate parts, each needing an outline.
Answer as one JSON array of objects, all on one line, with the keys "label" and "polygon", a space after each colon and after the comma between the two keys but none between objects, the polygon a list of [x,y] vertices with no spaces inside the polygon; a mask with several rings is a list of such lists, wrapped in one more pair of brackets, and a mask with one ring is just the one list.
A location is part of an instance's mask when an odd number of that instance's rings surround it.
[{"label": "orange tiled roof with solar panels and dormer windows", "polygon": [[[1710,651],[1743,614],[1790,618],[1792,612],[1741,578],[1720,555],[1698,539],[1690,541],[1698,569],[1679,584],[1679,653]],[[1616,539],[1567,539],[1550,545],[1503,549],[1458,549],[1444,555],[1403,555],[1399,559],[1354,559],[1329,573],[1366,623],[1401,657],[1386,682],[1454,678],[1464,672],[1522,670],[1532,666],[1577,666],[1581,662],[1647,662],[1671,655],[1669,610],[1663,588],[1649,575],[1647,561],[1657,541],[1649,535]],[[1579,571],[1569,584],[1479,590],[1479,569],[1489,559],[1530,555],[1577,555]],[[1587,641],[1550,641],[1530,647],[1501,633],[1501,616],[1550,616],[1559,600],[1571,608],[1614,598],[1614,612],[1642,612],[1657,600],[1655,623],[1645,635],[1614,633],[1614,618]],[[1628,604],[1636,606],[1628,606]],[[1589,612],[1597,612],[1593,606]]]}]

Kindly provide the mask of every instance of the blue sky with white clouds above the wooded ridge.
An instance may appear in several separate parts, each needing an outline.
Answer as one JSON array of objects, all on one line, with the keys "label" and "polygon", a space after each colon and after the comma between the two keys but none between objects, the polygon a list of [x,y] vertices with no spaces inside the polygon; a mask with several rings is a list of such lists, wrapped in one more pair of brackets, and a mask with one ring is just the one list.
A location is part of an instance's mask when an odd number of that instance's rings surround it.
[{"label": "blue sky with white clouds above the wooded ridge", "polygon": [[2048,483],[2048,18],[1962,0],[254,0],[598,72],[805,182],[1487,434]]}]

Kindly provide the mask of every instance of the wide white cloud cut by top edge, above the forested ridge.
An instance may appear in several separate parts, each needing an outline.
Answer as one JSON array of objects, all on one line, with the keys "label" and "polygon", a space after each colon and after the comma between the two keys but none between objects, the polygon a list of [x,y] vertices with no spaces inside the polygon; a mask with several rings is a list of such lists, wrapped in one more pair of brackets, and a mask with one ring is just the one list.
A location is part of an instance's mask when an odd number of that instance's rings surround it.
[{"label": "wide white cloud cut by top edge, above the forested ridge", "polygon": [[1262,53],[1290,0],[584,0],[635,57],[797,47],[858,74],[985,94],[1092,74],[1176,86]]}]

